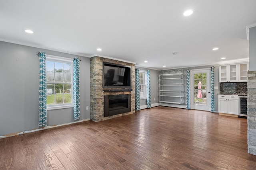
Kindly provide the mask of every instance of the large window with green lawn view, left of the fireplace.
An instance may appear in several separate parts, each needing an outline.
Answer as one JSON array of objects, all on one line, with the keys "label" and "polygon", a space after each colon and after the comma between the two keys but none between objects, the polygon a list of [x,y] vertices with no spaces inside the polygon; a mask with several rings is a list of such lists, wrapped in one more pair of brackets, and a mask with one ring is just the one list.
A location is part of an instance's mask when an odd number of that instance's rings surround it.
[{"label": "large window with green lawn view, left of the fireplace", "polygon": [[73,106],[73,61],[62,57],[46,56],[46,106]]}]

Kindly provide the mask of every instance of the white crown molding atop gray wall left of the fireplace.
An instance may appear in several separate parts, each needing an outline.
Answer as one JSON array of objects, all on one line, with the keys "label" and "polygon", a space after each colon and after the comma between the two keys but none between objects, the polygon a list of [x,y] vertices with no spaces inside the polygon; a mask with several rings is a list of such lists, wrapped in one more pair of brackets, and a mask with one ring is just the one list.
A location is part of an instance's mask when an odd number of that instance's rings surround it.
[{"label": "white crown molding atop gray wall left of the fireplace", "polygon": [[60,52],[60,53],[78,55],[78,56],[81,56],[81,57],[88,57],[88,55],[84,55],[84,54],[77,53],[77,52],[74,52],[74,51],[66,51],[66,50],[63,50],[63,49],[52,48],[52,47],[48,47],[48,46],[44,46],[44,45],[34,45],[34,44],[30,44],[30,43],[24,43],[24,42],[20,42],[20,41],[11,41],[11,40],[7,40],[7,39],[0,39],[0,41],[4,41],[4,42],[7,42],[7,43],[19,44],[19,45],[26,45],[28,47],[35,47],[35,48],[40,48],[40,49],[57,51],[57,52]]}]

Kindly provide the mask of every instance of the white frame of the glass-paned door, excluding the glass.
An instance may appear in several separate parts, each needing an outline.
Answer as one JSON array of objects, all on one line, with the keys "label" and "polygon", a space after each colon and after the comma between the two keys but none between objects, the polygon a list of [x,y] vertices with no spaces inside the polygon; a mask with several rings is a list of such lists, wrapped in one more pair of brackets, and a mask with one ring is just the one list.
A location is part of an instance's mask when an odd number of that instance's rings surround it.
[{"label": "white frame of the glass-paned door, excluding the glass", "polygon": [[[206,106],[194,104],[194,73],[206,72]],[[194,69],[190,70],[190,108],[196,110],[211,110],[211,83],[210,83],[210,68]]]}]

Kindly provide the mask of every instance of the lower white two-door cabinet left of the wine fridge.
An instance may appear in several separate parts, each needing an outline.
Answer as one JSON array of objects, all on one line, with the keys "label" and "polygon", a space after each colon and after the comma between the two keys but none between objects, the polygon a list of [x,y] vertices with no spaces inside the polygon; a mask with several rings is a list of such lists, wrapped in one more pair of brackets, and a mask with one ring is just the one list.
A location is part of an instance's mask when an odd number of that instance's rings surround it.
[{"label": "lower white two-door cabinet left of the wine fridge", "polygon": [[238,115],[238,95],[218,95],[219,113]]}]

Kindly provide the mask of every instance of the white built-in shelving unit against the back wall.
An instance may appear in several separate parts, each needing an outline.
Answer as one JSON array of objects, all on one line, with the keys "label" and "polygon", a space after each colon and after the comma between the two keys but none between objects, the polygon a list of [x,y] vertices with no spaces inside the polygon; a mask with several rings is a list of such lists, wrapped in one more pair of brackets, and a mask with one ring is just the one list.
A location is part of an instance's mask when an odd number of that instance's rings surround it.
[{"label": "white built-in shelving unit against the back wall", "polygon": [[184,104],[183,69],[163,71],[159,75],[159,102]]}]

